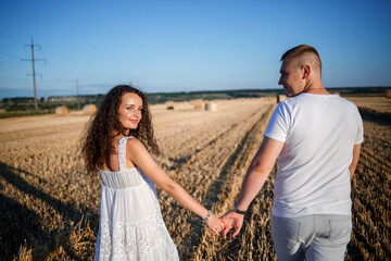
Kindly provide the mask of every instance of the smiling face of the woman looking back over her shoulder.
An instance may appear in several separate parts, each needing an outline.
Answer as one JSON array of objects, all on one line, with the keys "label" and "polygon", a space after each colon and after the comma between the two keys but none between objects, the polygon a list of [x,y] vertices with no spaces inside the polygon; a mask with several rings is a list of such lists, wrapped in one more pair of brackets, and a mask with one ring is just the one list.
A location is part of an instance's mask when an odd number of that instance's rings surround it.
[{"label": "smiling face of the woman looking back over her shoulder", "polygon": [[118,108],[118,121],[126,129],[136,129],[141,121],[142,99],[136,94],[123,95]]}]

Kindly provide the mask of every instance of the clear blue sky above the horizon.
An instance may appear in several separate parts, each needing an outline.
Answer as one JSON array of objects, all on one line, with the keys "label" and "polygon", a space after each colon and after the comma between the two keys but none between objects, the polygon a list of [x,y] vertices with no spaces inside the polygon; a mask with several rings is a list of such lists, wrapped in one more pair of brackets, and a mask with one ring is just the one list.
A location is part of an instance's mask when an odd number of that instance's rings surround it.
[{"label": "clear blue sky above the horizon", "polygon": [[279,58],[314,46],[326,87],[391,86],[391,1],[1,0],[0,98],[279,88]]}]

